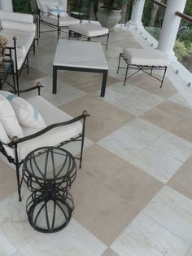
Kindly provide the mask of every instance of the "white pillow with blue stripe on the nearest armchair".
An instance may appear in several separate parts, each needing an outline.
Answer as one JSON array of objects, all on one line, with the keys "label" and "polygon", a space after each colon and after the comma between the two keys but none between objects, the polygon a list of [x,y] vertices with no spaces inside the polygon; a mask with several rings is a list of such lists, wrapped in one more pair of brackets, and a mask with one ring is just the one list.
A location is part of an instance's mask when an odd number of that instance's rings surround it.
[{"label": "white pillow with blue stripe on the nearest armchair", "polygon": [[20,125],[31,128],[43,129],[46,127],[46,122],[41,117],[33,105],[29,104],[25,99],[22,99],[11,92],[0,90],[0,94],[8,99]]}]

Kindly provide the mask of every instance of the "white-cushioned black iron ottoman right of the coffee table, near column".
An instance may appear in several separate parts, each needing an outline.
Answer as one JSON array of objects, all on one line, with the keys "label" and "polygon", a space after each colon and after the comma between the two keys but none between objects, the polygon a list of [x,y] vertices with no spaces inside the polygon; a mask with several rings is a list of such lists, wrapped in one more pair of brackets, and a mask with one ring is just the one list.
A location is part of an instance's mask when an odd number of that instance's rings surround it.
[{"label": "white-cushioned black iron ottoman right of the coffee table, near column", "polygon": [[[124,60],[126,67],[120,66],[121,58]],[[117,73],[119,73],[120,68],[126,69],[124,76],[124,86],[127,79],[129,79],[139,71],[142,71],[150,75],[151,77],[155,77],[155,79],[159,80],[159,82],[161,82],[160,87],[162,87],[168,64],[169,60],[159,50],[124,48],[123,53],[120,53]],[[136,71],[131,75],[127,76],[129,69],[135,69]],[[155,70],[163,71],[163,77],[159,78],[157,74],[154,73]]]}]

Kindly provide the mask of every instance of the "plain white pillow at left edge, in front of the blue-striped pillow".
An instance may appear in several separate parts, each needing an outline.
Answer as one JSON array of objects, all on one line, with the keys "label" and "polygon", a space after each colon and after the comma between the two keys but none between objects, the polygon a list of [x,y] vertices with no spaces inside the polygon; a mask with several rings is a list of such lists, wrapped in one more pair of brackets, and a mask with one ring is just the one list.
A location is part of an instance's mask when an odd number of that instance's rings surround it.
[{"label": "plain white pillow at left edge, in front of the blue-striped pillow", "polygon": [[0,95],[0,121],[5,128],[7,135],[12,139],[13,136],[23,137],[23,130],[16,118],[15,111],[13,110],[10,102]]}]

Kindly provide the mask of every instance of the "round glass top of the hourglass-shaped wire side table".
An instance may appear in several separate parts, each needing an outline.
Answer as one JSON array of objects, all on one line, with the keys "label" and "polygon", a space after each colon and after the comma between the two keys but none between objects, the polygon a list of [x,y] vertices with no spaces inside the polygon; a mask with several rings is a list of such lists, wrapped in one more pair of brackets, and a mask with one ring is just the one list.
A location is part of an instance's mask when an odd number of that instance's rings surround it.
[{"label": "round glass top of the hourglass-shaped wire side table", "polygon": [[24,170],[39,180],[63,179],[76,168],[72,154],[63,148],[43,147],[24,159]]}]

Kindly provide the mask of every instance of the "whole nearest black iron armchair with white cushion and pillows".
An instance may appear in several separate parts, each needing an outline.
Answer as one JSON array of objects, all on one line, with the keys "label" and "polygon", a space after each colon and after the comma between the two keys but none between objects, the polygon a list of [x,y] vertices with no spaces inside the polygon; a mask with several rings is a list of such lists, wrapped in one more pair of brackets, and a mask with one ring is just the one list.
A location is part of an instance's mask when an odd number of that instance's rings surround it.
[{"label": "whole nearest black iron armchair with white cushion and pillows", "polygon": [[[0,152],[15,165],[19,200],[23,178],[20,166],[29,152],[46,146],[63,146],[80,142],[80,168],[85,139],[86,111],[75,118],[40,96],[40,83],[28,90],[38,89],[39,95],[24,100],[10,92],[0,90]],[[51,113],[51,115],[50,115]],[[82,121],[82,122],[81,122]]]}]

